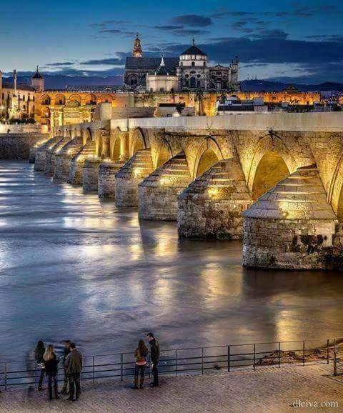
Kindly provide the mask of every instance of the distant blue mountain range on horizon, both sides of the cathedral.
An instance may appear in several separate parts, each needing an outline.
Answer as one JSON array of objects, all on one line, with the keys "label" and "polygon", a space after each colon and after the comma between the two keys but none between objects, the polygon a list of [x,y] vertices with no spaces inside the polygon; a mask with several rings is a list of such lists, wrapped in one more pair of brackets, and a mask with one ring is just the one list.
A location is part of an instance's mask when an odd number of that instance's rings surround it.
[{"label": "distant blue mountain range on horizon, both sides of the cathedral", "polygon": [[[66,76],[61,74],[44,74],[46,89],[72,89],[83,86],[84,89],[96,89],[96,86],[120,86],[122,75],[115,76]],[[31,75],[19,76],[19,83],[30,84]],[[282,91],[293,84],[300,91],[343,91],[343,84],[324,82],[322,84],[294,84],[269,80],[244,80],[241,82],[242,91]]]}]

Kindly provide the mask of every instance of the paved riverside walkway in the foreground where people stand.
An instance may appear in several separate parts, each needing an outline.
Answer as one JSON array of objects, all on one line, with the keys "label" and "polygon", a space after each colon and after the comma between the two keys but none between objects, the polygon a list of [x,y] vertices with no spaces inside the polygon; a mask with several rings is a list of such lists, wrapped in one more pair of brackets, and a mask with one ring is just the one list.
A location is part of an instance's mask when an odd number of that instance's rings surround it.
[{"label": "paved riverside walkway in the foreground where people stand", "polygon": [[[343,381],[332,366],[259,367],[256,371],[162,377],[161,387],[131,390],[131,382],[84,384],[79,402],[46,400],[46,392],[0,394],[0,412],[294,412],[342,411]],[[337,402],[338,407],[294,409],[294,401]]]}]

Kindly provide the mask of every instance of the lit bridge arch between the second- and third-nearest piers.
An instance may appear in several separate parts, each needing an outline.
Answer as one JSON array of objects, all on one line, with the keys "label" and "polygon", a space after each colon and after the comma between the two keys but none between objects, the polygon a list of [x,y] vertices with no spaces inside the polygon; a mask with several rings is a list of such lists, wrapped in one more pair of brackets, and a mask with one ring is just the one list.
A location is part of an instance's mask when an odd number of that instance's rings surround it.
[{"label": "lit bridge arch between the second- and third-nearest piers", "polygon": [[211,168],[211,166],[217,164],[217,162],[222,159],[224,159],[222,150],[216,139],[212,136],[207,136],[197,150],[193,169],[193,179],[204,174],[207,169]]}]

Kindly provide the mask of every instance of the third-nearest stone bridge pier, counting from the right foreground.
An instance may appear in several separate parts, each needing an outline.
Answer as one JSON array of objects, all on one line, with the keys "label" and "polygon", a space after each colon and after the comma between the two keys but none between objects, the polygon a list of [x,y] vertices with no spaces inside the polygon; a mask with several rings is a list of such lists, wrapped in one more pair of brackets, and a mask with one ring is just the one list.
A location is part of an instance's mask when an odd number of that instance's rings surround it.
[{"label": "third-nearest stone bridge pier, counting from the right foreground", "polygon": [[184,152],[166,161],[139,184],[139,218],[177,221],[177,196],[191,180]]}]

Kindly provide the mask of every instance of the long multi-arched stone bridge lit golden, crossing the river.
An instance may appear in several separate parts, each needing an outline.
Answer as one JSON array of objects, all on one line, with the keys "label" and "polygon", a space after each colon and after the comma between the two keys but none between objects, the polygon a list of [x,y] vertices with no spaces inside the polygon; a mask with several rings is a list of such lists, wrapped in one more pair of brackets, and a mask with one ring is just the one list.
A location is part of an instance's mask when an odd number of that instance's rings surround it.
[{"label": "long multi-arched stone bridge lit golden, crossing the river", "polygon": [[243,234],[249,266],[342,268],[342,114],[111,119],[55,134],[35,165],[55,179],[177,220],[180,237]]}]

